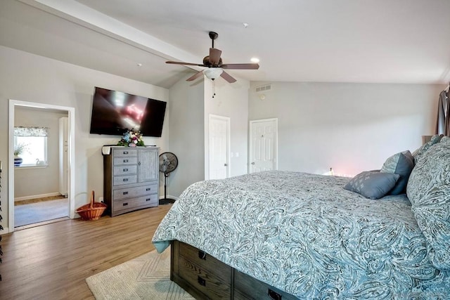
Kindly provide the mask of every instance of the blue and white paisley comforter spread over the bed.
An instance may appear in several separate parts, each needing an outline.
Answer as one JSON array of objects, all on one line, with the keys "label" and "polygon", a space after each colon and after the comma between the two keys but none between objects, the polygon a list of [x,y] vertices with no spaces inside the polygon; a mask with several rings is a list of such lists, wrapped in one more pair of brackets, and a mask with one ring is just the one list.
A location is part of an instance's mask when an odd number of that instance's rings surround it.
[{"label": "blue and white paisley comforter spread over the bed", "polygon": [[179,240],[300,299],[450,299],[406,195],[349,178],[266,171],[188,187],[153,237]]}]

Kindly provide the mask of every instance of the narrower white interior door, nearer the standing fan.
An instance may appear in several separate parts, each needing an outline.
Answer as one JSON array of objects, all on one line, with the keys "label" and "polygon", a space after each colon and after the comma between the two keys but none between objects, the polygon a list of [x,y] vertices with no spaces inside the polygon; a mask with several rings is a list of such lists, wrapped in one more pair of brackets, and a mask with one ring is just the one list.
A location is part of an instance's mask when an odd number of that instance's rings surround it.
[{"label": "narrower white interior door, nearer the standing fan", "polygon": [[230,118],[210,115],[210,179],[229,177]]}]

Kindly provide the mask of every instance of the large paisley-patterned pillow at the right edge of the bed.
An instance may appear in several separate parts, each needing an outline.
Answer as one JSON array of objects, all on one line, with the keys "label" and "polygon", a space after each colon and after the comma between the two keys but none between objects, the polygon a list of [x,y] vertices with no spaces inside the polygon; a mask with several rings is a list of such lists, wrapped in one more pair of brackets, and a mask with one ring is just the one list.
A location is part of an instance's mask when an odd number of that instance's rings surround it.
[{"label": "large paisley-patterned pillow at the right edge of the bed", "polygon": [[450,270],[450,138],[442,138],[420,158],[406,195],[427,240],[430,261],[439,270]]}]

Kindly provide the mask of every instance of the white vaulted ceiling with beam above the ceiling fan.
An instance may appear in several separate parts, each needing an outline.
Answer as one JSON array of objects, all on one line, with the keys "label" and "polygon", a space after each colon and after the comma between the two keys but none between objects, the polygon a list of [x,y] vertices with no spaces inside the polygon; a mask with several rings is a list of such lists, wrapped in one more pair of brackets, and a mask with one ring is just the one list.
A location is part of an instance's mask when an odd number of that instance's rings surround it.
[{"label": "white vaulted ceiling with beam above the ceiling fan", "polygon": [[[169,88],[215,48],[250,81],[447,84],[449,0],[0,0],[0,45]],[[248,25],[245,26],[244,23]],[[139,66],[141,65],[141,66]]]}]

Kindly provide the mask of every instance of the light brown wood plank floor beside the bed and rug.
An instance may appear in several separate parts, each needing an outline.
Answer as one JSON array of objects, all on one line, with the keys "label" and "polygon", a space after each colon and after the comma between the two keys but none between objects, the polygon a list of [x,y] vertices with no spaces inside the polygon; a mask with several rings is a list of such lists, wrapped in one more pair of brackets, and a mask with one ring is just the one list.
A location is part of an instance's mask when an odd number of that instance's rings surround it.
[{"label": "light brown wood plank floor beside the bed and rug", "polygon": [[155,249],[151,239],[170,207],[2,235],[0,299],[94,299],[84,280]]}]

